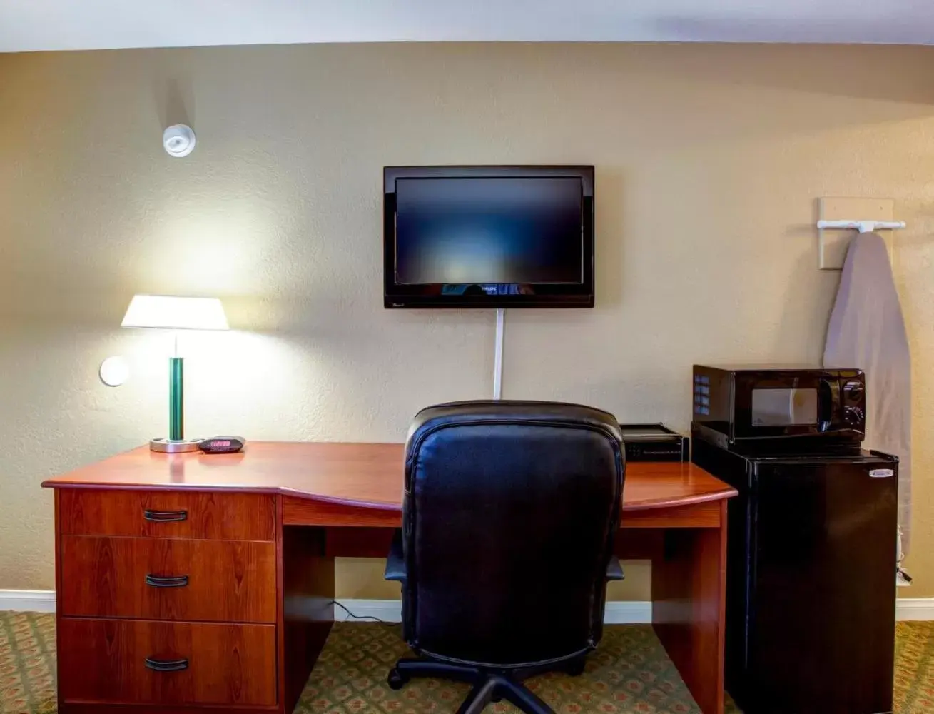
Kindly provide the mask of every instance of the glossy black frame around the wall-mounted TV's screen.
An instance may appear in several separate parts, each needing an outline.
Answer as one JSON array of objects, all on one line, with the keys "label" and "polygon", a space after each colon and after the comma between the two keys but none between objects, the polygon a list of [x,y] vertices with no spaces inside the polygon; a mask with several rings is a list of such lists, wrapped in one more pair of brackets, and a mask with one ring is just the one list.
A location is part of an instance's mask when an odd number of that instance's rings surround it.
[{"label": "glossy black frame around the wall-mounted TV's screen", "polygon": [[[540,284],[533,295],[440,295],[435,286],[395,281],[396,179],[581,179],[584,222],[584,276],[580,284]],[[594,306],[594,168],[587,165],[530,166],[385,166],[383,168],[383,307],[593,307]]]}]

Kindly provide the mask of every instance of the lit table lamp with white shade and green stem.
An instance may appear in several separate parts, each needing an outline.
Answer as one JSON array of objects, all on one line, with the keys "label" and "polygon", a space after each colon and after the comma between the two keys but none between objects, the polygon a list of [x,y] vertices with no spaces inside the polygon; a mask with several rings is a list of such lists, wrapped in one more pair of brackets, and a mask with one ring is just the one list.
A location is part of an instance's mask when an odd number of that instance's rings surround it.
[{"label": "lit table lamp with white shade and green stem", "polygon": [[[163,330],[229,330],[224,307],[216,297],[177,297],[134,295],[120,327],[150,327]],[[198,442],[184,436],[184,369],[178,356],[175,336],[174,356],[169,358],[169,437],[151,439],[153,451],[195,451]]]}]

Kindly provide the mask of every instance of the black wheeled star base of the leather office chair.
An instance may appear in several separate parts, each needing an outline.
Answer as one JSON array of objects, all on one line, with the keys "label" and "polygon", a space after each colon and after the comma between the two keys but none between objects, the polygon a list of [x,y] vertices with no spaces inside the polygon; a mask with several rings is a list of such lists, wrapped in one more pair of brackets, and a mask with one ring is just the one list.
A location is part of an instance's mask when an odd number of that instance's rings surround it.
[{"label": "black wheeled star base of the leather office chair", "polygon": [[474,689],[458,707],[457,714],[479,714],[490,702],[505,699],[527,714],[555,714],[535,693],[522,684],[522,679],[543,672],[562,670],[576,677],[584,671],[584,657],[575,657],[562,664],[549,664],[528,669],[488,669],[468,664],[450,664],[427,658],[404,658],[389,670],[389,688],[402,689],[412,678],[432,677],[453,679],[473,684]]}]

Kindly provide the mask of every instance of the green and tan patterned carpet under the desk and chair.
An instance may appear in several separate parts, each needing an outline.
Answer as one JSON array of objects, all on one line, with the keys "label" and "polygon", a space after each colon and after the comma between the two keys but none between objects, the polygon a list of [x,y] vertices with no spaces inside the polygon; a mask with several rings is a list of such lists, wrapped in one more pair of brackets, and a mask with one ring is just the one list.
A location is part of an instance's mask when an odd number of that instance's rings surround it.
[{"label": "green and tan patterned carpet under the desk and chair", "polygon": [[[296,714],[454,711],[466,685],[423,679],[402,692],[389,689],[386,672],[405,652],[397,627],[335,624]],[[934,711],[934,622],[899,622],[896,657],[895,710]],[[0,714],[54,714],[54,664],[54,616],[0,612]],[[647,625],[606,628],[583,676],[545,675],[531,679],[529,686],[558,714],[699,714]],[[727,710],[737,714],[729,703]],[[500,703],[487,711],[517,710]]]}]

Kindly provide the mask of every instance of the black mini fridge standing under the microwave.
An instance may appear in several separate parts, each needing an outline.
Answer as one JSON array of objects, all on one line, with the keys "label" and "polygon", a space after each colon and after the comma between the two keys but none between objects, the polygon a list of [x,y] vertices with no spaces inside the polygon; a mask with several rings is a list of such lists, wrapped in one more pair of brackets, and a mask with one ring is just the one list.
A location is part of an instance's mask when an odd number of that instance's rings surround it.
[{"label": "black mini fridge standing under the microwave", "polygon": [[692,461],[733,486],[727,690],[745,714],[892,711],[898,459],[856,445],[724,447]]}]

